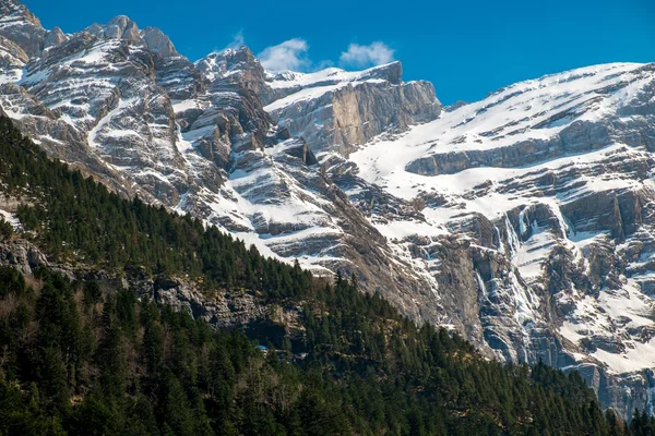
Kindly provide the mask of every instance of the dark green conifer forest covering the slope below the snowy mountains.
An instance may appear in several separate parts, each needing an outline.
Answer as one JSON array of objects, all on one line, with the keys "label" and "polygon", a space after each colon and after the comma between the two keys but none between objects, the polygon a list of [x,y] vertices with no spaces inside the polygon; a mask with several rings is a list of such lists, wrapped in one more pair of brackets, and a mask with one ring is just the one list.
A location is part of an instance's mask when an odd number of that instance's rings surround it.
[{"label": "dark green conifer forest covering the slope below the snowy mountains", "polygon": [[[301,343],[216,329],[133,289],[0,268],[0,435],[653,435],[603,412],[577,373],[501,365],[416,326],[355,279],[298,265],[53,162],[0,119],[17,233],[53,261],[184,274],[301,307]],[[257,344],[269,348],[262,350]],[[299,353],[302,351],[302,353]],[[301,355],[301,358],[299,358]]]}]

